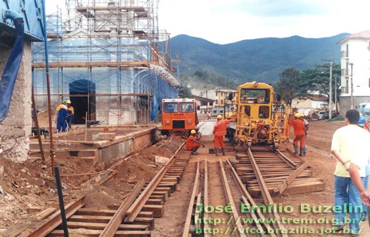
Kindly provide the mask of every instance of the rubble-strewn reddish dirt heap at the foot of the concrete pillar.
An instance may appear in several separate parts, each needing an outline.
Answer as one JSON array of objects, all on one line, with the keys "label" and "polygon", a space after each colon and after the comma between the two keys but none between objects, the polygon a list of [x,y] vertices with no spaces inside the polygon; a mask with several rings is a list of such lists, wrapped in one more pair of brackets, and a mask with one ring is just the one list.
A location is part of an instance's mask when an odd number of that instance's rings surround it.
[{"label": "rubble-strewn reddish dirt heap at the foot of the concrete pillar", "polygon": [[[97,167],[84,164],[76,157],[55,158],[59,164],[60,174],[78,172],[95,172]],[[61,177],[66,188],[63,193],[68,195],[75,187],[87,181],[89,176]],[[40,158],[30,159],[23,163],[14,163],[0,157],[0,228],[7,228],[15,220],[27,214],[29,207],[47,208],[56,206],[57,191],[51,176],[51,162]],[[70,198],[67,196],[65,203]]]}]

